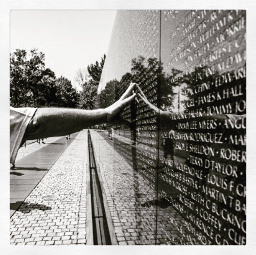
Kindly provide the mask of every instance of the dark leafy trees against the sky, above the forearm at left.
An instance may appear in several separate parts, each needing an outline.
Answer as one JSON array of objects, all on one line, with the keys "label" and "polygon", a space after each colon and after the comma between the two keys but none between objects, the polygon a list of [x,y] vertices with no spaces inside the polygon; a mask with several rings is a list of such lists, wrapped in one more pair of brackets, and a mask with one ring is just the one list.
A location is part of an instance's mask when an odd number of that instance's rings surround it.
[{"label": "dark leafy trees against the sky, above the forearm at left", "polygon": [[16,49],[10,55],[10,105],[77,107],[79,94],[71,82],[45,67],[45,54]]}]

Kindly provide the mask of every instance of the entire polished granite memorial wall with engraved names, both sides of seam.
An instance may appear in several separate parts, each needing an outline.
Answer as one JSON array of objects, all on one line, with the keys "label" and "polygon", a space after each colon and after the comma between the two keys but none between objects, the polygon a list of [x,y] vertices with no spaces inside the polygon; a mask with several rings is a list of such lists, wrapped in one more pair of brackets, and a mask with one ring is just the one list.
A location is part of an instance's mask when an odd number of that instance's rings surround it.
[{"label": "entire polished granite memorial wall with engraved names, both sides of seam", "polygon": [[130,82],[160,109],[134,102],[132,125],[105,135],[151,190],[137,192],[150,222],[136,231],[150,230],[150,244],[244,245],[245,11],[119,11],[99,105]]}]

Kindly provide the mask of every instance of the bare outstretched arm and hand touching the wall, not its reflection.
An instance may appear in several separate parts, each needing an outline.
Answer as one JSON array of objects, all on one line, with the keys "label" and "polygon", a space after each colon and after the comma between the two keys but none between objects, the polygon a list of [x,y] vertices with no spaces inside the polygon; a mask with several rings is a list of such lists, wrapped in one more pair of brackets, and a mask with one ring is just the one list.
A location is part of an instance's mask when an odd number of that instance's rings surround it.
[{"label": "bare outstretched arm and hand touching the wall, not its reflection", "polygon": [[130,95],[135,86],[130,84],[121,98],[105,109],[38,108],[27,127],[23,140],[68,135],[102,123],[128,125],[128,120],[123,120],[120,114],[136,97],[135,93]]}]

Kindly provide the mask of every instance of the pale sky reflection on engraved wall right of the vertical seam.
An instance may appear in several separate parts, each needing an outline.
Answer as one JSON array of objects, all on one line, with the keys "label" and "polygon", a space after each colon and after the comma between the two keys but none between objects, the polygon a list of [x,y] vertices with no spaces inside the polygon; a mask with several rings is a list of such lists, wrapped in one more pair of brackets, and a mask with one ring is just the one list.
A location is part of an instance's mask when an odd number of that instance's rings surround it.
[{"label": "pale sky reflection on engraved wall right of the vertical seam", "polygon": [[[172,68],[185,73],[192,72],[195,66],[212,67],[215,64],[213,72],[223,74],[234,70],[234,65],[245,63],[246,18],[241,10],[232,10],[229,15],[233,24],[226,29],[224,24],[230,20],[225,19],[224,11],[219,11],[223,13],[218,14],[219,18],[216,19],[209,11],[201,10],[194,17],[196,26],[192,25],[191,20],[186,21],[190,11],[162,11],[161,61],[166,73],[170,73]],[[206,15],[210,15],[210,18],[205,19]],[[235,28],[236,21],[239,21],[239,25]],[[180,40],[183,34],[185,36]]]}]

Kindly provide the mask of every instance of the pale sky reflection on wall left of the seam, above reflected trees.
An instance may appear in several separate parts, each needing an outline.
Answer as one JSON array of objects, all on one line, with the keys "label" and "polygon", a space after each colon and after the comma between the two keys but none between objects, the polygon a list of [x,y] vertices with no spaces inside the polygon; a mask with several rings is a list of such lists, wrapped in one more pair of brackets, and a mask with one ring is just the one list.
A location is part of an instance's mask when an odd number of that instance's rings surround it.
[{"label": "pale sky reflection on wall left of the seam, above reflected trees", "polygon": [[148,58],[159,60],[159,21],[158,10],[117,11],[98,92],[110,80],[120,80],[129,72],[132,59],[143,56],[145,62]]}]

